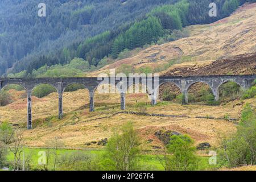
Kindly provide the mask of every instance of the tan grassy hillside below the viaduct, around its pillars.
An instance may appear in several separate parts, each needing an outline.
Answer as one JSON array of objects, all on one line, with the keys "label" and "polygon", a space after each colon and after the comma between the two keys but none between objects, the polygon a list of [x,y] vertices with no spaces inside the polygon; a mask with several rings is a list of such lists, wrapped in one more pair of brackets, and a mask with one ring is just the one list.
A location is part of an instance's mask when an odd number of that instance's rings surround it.
[{"label": "tan grassy hillside below the viaduct, around its pillars", "polygon": [[[254,107],[255,98],[251,100],[232,101],[222,106],[203,106],[174,104],[160,102],[150,106],[150,101],[144,94],[127,94],[126,111],[139,112],[135,106],[138,102],[147,102],[146,113],[177,115],[178,117],[151,117],[129,113],[119,113],[119,95],[97,94],[95,97],[96,111],[89,113],[89,93],[87,90],[67,92],[63,96],[65,116],[57,119],[57,93],[49,94],[44,98],[32,98],[34,129],[26,131],[27,146],[44,146],[44,142],[54,136],[59,136],[68,148],[100,147],[97,145],[101,139],[109,138],[114,129],[123,123],[131,121],[135,129],[139,130],[143,139],[144,150],[154,151],[154,146],[163,147],[162,142],[154,135],[156,131],[172,130],[191,135],[196,144],[209,142],[213,147],[218,146],[218,139],[222,134],[233,133],[236,125],[226,121],[225,115],[230,118],[240,118],[240,113],[246,102]],[[111,99],[110,99],[111,98]],[[72,101],[72,105],[69,102]],[[1,121],[9,121],[13,125],[26,126],[26,99],[19,99],[10,105],[1,107]],[[185,115],[185,117],[179,117]],[[197,118],[205,117],[205,118]],[[210,119],[210,117],[219,119]],[[223,118],[223,119],[220,119]],[[147,143],[152,139],[153,142]],[[156,151],[159,151],[157,149]],[[160,149],[161,151],[161,149]]]}]

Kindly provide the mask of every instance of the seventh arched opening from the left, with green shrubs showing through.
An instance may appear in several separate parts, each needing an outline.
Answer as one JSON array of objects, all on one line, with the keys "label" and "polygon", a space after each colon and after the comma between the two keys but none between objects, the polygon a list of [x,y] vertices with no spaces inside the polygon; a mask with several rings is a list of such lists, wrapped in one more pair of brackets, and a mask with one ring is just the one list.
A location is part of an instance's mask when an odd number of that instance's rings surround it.
[{"label": "seventh arched opening from the left, with green shrubs showing through", "polygon": [[187,94],[189,104],[214,104],[212,89],[204,82],[196,82],[195,84],[189,86]]}]

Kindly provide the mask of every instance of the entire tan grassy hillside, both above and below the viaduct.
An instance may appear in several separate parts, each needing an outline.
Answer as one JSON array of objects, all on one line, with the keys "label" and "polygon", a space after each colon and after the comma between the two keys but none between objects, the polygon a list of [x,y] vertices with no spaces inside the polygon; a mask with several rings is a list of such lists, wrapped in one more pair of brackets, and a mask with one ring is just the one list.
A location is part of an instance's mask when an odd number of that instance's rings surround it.
[{"label": "entire tan grassy hillside, both above and below the viaduct", "polygon": [[[127,64],[138,69],[143,67],[156,68],[176,60],[174,65],[164,68],[160,74],[173,75],[219,75],[219,74],[255,74],[256,47],[256,3],[246,4],[228,18],[207,25],[189,26],[191,32],[187,38],[174,42],[155,45],[143,49],[133,57],[118,60],[99,71],[86,72],[86,76],[97,76],[108,72],[110,68],[119,69]],[[216,46],[217,45],[217,46]],[[242,55],[243,54],[243,55]],[[221,71],[220,71],[221,70]],[[0,121],[9,121],[13,125],[26,125],[27,100],[24,91],[9,91],[13,103],[0,107]],[[89,113],[88,90],[67,92],[63,96],[65,116],[62,120],[57,115],[57,93],[43,98],[32,98],[33,126],[35,129],[26,131],[28,146],[43,146],[52,135],[58,135],[66,147],[88,147],[88,143],[97,143],[109,138],[115,127],[131,121],[139,130],[146,150],[163,147],[154,135],[159,130],[174,130],[189,134],[200,142],[209,142],[218,146],[221,134],[233,133],[236,125],[227,121],[225,115],[239,119],[245,102],[234,100],[221,106],[185,105],[172,102],[160,102],[152,107],[146,94],[127,94],[127,111],[139,112],[137,102],[148,103],[146,113],[177,115],[172,117],[150,117],[119,113],[119,95],[97,94],[95,96],[96,111]],[[69,102],[72,101],[72,105]],[[255,106],[255,98],[247,100]],[[180,117],[185,115],[185,117]],[[198,118],[204,117],[204,118]],[[210,117],[218,119],[210,119]],[[147,140],[152,139],[152,143]],[[90,147],[99,147],[90,144]],[[153,149],[155,150],[155,149]],[[161,149],[160,149],[161,150]]]}]

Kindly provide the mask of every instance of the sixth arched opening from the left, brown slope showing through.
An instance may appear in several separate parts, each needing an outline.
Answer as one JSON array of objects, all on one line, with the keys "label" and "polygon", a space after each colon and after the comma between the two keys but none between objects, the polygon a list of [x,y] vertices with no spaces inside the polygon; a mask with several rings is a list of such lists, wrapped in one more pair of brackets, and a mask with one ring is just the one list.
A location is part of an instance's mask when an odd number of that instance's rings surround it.
[{"label": "sixth arched opening from the left, brown slope showing through", "polygon": [[182,94],[180,88],[172,82],[166,82],[160,85],[159,100],[181,103]]}]

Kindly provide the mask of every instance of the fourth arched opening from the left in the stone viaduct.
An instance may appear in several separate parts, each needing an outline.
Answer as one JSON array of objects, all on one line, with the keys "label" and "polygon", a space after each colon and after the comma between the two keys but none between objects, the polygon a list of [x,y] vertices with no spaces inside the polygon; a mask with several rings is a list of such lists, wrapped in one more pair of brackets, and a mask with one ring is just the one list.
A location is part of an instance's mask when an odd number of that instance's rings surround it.
[{"label": "fourth arched opening from the left in the stone viaduct", "polygon": [[94,90],[94,110],[119,110],[121,93],[115,89],[115,85],[102,84]]}]

